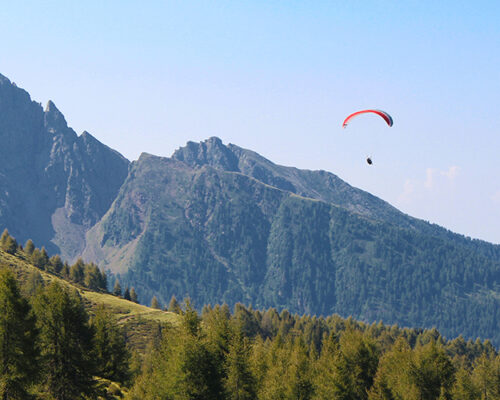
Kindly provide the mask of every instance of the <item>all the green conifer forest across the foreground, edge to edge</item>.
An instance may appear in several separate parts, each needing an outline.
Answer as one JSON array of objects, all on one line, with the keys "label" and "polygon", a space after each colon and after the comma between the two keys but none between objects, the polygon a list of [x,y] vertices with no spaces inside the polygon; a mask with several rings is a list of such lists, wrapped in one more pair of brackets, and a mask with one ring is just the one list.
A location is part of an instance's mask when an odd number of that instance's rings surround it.
[{"label": "all the green conifer forest across the foreground, edge to edge", "polygon": [[[27,258],[11,239],[1,250]],[[2,399],[500,398],[488,340],[242,304],[198,313],[173,297],[175,322],[138,352],[104,305],[32,275],[0,268]]]}]

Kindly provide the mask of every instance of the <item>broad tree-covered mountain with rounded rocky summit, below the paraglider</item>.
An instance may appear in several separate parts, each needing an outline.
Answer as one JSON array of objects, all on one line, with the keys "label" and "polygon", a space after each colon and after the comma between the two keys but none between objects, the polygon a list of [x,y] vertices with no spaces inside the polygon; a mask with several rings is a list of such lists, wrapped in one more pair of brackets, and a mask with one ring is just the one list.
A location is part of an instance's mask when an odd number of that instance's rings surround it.
[{"label": "broad tree-covered mountain with rounded rocky summit, below the paraglider", "polygon": [[[262,181],[240,167],[245,150],[233,157],[216,138],[187,147],[197,158],[143,154],[87,235],[85,258],[143,301],[243,301],[500,343],[500,246],[413,219],[332,174],[259,160],[270,165],[253,174]],[[322,180],[333,183],[319,193]]]}]

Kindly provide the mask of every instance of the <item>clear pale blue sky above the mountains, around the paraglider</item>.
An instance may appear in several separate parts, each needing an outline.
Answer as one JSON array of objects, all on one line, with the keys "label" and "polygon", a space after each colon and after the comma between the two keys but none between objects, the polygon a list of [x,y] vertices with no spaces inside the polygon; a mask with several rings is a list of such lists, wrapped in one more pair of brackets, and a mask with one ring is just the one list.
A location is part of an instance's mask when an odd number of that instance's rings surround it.
[{"label": "clear pale blue sky above the mountains, around the paraglider", "polygon": [[[218,136],[500,243],[498,21],[498,1],[5,1],[0,73],[131,160]],[[394,126],[342,130],[368,107]]]}]

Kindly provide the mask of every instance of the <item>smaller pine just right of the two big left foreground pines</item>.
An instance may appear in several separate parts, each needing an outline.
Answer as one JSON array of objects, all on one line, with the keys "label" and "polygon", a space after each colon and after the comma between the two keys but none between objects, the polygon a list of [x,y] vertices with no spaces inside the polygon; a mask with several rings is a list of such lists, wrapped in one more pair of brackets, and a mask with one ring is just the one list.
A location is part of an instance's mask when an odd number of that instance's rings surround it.
[{"label": "smaller pine just right of the two big left foreground pines", "polygon": [[104,306],[98,307],[91,321],[94,330],[94,357],[96,374],[102,378],[125,383],[130,378],[130,353],[125,344],[125,336],[113,315]]}]

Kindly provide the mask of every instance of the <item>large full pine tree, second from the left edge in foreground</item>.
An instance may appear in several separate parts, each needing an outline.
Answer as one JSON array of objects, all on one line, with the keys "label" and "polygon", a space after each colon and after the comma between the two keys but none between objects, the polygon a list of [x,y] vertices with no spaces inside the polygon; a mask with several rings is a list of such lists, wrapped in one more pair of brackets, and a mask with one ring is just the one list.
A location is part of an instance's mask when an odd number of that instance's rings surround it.
[{"label": "large full pine tree, second from the left edge in foreground", "polygon": [[95,393],[92,331],[78,293],[51,283],[33,301],[40,331],[44,390],[58,400]]}]

